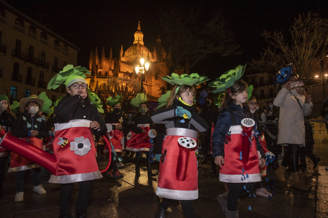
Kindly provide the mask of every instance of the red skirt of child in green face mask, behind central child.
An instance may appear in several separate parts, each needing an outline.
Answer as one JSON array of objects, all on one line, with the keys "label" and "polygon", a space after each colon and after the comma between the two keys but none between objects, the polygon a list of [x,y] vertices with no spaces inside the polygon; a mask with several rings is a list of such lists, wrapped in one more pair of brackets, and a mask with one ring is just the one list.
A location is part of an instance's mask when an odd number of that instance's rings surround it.
[{"label": "red skirt of child in green face mask, behind central child", "polygon": [[149,151],[150,143],[148,132],[150,130],[150,124],[138,124],[137,127],[146,129],[143,133],[134,133],[130,131],[127,136],[126,150],[129,151]]}]

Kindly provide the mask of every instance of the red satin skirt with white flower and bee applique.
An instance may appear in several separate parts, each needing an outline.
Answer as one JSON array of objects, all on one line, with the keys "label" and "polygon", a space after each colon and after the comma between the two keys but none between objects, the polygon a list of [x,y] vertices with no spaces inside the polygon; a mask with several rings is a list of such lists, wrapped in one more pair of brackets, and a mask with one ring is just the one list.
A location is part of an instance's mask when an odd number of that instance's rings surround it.
[{"label": "red satin skirt with white flower and bee applique", "polygon": [[48,182],[73,183],[102,178],[95,159],[90,122],[77,119],[55,124],[53,153],[57,166]]}]

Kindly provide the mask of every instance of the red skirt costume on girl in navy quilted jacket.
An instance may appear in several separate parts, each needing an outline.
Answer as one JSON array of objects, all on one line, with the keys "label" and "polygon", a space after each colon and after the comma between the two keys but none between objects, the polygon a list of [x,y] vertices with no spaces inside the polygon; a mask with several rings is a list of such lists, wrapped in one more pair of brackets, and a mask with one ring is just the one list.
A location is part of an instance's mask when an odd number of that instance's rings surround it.
[{"label": "red skirt costume on girl in navy quilted jacket", "polygon": [[259,152],[256,148],[254,130],[252,131],[251,128],[245,131],[241,125],[230,126],[224,145],[225,158],[219,173],[220,181],[231,183],[261,181]]}]

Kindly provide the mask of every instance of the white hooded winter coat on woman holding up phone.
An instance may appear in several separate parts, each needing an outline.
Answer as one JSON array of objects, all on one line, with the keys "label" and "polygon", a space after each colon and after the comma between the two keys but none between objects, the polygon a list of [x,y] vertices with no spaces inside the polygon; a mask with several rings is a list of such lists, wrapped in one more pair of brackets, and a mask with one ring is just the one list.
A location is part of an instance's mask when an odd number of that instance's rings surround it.
[{"label": "white hooded winter coat on woman holding up phone", "polygon": [[[290,90],[302,105],[305,116],[312,112],[313,104],[305,103],[305,96],[295,89]],[[282,88],[273,104],[280,107],[277,144],[299,144],[305,146],[304,115],[295,97],[288,89]]]}]

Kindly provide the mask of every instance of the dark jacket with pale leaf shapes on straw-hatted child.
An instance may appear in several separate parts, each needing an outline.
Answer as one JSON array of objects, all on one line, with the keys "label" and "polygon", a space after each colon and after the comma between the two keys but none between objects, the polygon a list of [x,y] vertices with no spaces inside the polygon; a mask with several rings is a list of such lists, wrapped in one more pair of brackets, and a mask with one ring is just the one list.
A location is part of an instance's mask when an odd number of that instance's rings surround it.
[{"label": "dark jacket with pale leaf shapes on straw-hatted child", "polygon": [[26,138],[29,136],[28,133],[31,130],[38,131],[39,133],[36,137],[41,139],[49,135],[48,127],[39,114],[35,114],[31,117],[31,113],[24,111],[23,115],[17,117],[11,126],[11,135],[17,138]]}]

